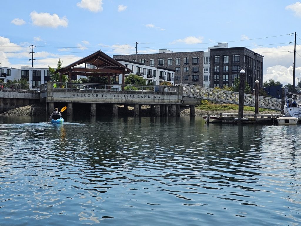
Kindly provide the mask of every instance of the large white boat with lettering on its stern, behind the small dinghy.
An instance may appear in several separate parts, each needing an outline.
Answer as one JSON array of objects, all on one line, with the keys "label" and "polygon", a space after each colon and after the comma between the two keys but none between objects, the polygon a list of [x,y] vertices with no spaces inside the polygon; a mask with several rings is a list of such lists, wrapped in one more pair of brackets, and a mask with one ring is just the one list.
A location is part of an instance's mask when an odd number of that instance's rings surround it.
[{"label": "large white boat with lettering on its stern, behind the small dinghy", "polygon": [[290,92],[285,98],[285,117],[295,117],[301,121],[301,93]]}]

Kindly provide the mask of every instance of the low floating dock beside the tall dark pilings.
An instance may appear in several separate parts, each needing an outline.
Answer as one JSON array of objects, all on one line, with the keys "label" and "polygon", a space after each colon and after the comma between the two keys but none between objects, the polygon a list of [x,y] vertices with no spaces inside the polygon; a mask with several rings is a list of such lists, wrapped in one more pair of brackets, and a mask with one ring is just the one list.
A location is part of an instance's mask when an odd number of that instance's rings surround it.
[{"label": "low floating dock beside the tall dark pilings", "polygon": [[241,120],[242,124],[274,124],[277,123],[277,118],[284,117],[283,114],[244,114],[243,118],[238,118],[238,114],[219,113],[219,119],[222,123],[235,124]]}]

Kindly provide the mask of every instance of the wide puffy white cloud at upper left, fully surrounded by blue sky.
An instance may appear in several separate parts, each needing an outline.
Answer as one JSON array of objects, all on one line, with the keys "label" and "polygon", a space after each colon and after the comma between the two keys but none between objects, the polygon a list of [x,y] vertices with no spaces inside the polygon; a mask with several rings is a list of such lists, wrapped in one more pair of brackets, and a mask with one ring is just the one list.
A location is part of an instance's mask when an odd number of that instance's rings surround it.
[{"label": "wide puffy white cloud at upper left, fully surrounded by blue sky", "polygon": [[49,13],[37,13],[36,11],[32,11],[30,13],[31,20],[33,24],[39,27],[52,27],[57,28],[59,26],[67,27],[68,20],[67,17],[64,16],[60,18],[57,14],[49,14]]}]

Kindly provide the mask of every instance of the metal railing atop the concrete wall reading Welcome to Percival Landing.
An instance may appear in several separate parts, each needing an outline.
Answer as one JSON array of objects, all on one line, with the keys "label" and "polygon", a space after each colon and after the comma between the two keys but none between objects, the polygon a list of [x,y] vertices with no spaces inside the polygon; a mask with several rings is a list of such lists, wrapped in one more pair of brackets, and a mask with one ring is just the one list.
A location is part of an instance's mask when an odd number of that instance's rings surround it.
[{"label": "metal railing atop the concrete wall reading Welcome to Percival Landing", "polygon": [[[162,92],[178,92],[177,86],[153,86],[153,85],[120,85],[120,84],[96,84],[96,83],[53,83],[53,91],[57,90],[74,90],[78,89],[81,91],[91,90],[95,91],[106,91],[106,90],[119,90],[119,91],[162,91]],[[41,85],[42,89],[45,89],[47,84]]]}]

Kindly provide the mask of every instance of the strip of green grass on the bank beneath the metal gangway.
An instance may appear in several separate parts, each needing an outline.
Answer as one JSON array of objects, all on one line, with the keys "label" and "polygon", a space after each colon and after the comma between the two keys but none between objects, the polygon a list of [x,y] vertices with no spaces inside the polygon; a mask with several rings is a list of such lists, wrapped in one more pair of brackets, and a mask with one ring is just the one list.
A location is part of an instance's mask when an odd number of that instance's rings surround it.
[{"label": "strip of green grass on the bank beneath the metal gangway", "polygon": [[[201,105],[196,106],[197,109],[204,110],[204,111],[229,111],[229,110],[237,110],[238,105],[236,104],[210,104],[210,103],[202,103]],[[254,111],[255,107],[244,106],[244,111]],[[272,111],[269,109],[259,108],[259,112],[263,111]]]}]

